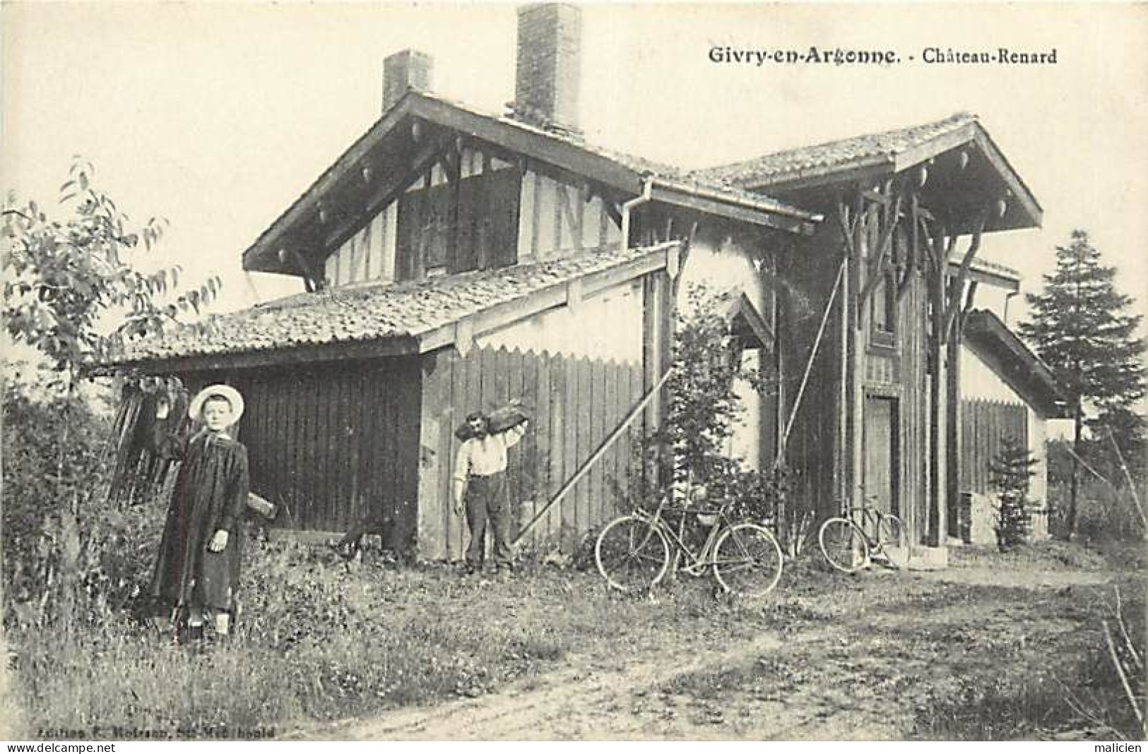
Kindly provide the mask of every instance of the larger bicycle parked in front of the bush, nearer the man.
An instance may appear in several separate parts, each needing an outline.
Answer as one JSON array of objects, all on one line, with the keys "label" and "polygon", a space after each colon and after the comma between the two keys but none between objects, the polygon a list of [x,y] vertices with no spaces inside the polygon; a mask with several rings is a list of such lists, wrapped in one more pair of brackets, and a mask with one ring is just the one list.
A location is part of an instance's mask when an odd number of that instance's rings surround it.
[{"label": "larger bicycle parked in front of the bush, nearer the man", "polygon": [[[714,577],[727,592],[743,597],[760,597],[782,576],[782,549],[774,535],[755,523],[735,523],[726,515],[729,502],[718,510],[667,506],[662,498],[651,514],[642,508],[614,519],[598,535],[594,559],[598,573],[614,589],[638,592],[652,589],[670,566],[673,546],[675,567],[700,576],[713,568]],[[662,515],[681,515],[678,529]],[[685,521],[695,516],[699,526],[708,526],[705,542],[697,550],[685,542]]]}]

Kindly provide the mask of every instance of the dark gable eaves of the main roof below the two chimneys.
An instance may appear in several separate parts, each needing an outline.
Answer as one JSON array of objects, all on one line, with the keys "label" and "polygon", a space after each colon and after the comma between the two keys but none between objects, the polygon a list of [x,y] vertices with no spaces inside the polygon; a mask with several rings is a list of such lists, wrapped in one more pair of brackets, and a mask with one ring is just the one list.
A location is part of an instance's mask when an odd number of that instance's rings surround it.
[{"label": "dark gable eaves of the main roof below the two chimneys", "polygon": [[[558,171],[597,185],[629,199],[642,193],[647,171],[635,170],[607,155],[580,146],[575,140],[551,134],[517,121],[476,112],[468,108],[409,91],[379,121],[355,141],[334,163],[280,215],[243,252],[243,269],[261,272],[297,274],[297,266],[289,258],[300,244],[316,246],[320,239],[329,241],[331,234],[321,230],[319,218],[323,207],[339,203],[358,208],[359,212],[379,209],[371,207],[372,197],[386,192],[373,188],[364,179],[364,169],[373,174],[394,173],[400,156],[410,158],[414,146],[410,142],[412,124],[424,122],[455,132],[458,138],[475,140],[501,151],[507,161],[536,161],[552,165]],[[765,196],[753,197],[745,192],[706,188],[672,180],[656,179],[656,201],[689,207],[755,225],[792,233],[812,233],[820,218],[810,212],[774,202]],[[282,254],[280,254],[282,251]]]}]

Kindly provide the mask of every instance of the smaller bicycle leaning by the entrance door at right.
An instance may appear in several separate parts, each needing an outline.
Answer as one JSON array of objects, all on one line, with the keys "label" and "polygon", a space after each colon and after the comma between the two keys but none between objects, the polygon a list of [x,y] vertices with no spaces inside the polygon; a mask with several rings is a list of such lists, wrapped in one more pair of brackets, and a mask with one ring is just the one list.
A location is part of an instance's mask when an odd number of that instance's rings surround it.
[{"label": "smaller bicycle leaning by the entrance door at right", "polygon": [[[866,497],[867,503],[876,499]],[[817,531],[817,544],[825,561],[846,574],[868,567],[874,555],[890,568],[903,568],[908,552],[901,520],[870,505],[846,506],[843,515],[827,519]]]}]

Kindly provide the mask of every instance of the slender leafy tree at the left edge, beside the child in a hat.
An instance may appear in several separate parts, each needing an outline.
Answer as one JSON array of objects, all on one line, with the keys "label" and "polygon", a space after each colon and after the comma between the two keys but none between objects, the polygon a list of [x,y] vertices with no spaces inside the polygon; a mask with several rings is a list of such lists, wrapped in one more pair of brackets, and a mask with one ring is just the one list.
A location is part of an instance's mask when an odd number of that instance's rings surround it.
[{"label": "slender leafy tree at the left edge, beside the child in a hat", "polygon": [[[42,582],[55,590],[56,599],[47,599],[46,591],[41,605],[55,606],[61,614],[68,613],[75,593],[87,593],[72,589],[83,577],[83,565],[103,554],[99,516],[79,523],[84,504],[102,499],[96,488],[106,477],[100,471],[106,458],[98,450],[100,422],[79,394],[85,371],[126,341],[157,334],[199,312],[220,287],[214,278],[178,295],[178,266],[137,270],[135,254],[153,249],[165,223],[153,218],[132,226],[93,177],[92,165],[77,158],[60,188],[59,218],[34,201],[21,203],[11,195],[2,210],[5,326],[15,343],[40,353],[52,376],[47,389],[38,391],[42,405],[5,391],[5,438],[21,438],[25,451],[13,456],[18,465],[6,472],[29,482],[24,493],[34,498],[18,506],[5,502],[8,526],[0,535],[6,550],[23,538],[23,550],[17,550],[37,553],[36,563],[22,562],[21,568],[25,574],[47,568]],[[34,448],[34,457],[29,448]],[[9,510],[20,512],[20,526]],[[33,547],[28,537],[37,536]]]}]

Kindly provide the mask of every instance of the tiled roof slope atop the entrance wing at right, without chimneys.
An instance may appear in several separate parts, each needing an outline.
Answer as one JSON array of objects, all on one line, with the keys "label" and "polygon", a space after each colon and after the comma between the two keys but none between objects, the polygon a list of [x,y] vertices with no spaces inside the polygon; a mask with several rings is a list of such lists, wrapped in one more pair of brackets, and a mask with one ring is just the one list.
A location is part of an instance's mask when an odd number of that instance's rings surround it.
[{"label": "tiled roof slope atop the entrance wing at right, without chimneys", "polygon": [[799,177],[813,178],[892,161],[902,151],[925,145],[976,121],[975,115],[957,112],[923,125],[785,149],[744,162],[707,168],[696,171],[695,176],[701,180],[736,186],[763,186]]}]

